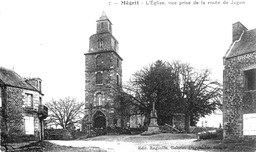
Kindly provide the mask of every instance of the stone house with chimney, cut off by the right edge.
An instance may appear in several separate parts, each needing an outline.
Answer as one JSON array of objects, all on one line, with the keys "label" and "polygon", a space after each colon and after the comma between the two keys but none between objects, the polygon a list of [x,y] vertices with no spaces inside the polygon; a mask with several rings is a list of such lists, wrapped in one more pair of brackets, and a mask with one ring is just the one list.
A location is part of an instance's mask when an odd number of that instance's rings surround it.
[{"label": "stone house with chimney, cut off by the right edge", "polygon": [[224,139],[256,135],[256,29],[232,24],[232,43],[223,57]]}]

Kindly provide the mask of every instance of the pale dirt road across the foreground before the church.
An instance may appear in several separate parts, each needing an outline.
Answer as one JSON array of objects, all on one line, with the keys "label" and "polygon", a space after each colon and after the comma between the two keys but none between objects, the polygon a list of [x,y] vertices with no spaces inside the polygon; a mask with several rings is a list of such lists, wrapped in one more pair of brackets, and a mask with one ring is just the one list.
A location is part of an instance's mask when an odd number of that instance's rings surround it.
[{"label": "pale dirt road across the foreground before the church", "polygon": [[[194,134],[154,134],[151,136],[98,136],[75,141],[50,141],[63,146],[91,147],[101,152],[201,152],[226,151],[219,140],[196,141]],[[100,152],[100,151],[99,151]]]}]

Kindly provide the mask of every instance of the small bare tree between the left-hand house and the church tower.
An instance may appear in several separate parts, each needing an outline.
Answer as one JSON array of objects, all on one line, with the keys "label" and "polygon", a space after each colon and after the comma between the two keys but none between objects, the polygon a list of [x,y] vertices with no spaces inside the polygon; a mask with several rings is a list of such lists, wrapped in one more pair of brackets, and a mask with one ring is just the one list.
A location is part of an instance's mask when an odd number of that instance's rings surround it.
[{"label": "small bare tree between the left-hand house and the church tower", "polygon": [[66,97],[58,100],[50,100],[45,103],[48,107],[48,118],[46,124],[60,125],[67,128],[70,123],[78,123],[84,114],[85,102],[79,103],[76,98]]}]

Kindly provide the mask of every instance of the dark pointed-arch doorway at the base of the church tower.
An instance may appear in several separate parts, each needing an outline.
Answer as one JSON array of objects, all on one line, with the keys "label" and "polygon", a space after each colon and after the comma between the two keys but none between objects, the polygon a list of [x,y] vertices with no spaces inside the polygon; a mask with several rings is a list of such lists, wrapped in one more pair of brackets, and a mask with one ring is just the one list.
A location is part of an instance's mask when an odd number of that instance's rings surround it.
[{"label": "dark pointed-arch doorway at the base of the church tower", "polygon": [[106,115],[101,110],[97,110],[93,114],[92,125],[95,128],[106,127]]}]

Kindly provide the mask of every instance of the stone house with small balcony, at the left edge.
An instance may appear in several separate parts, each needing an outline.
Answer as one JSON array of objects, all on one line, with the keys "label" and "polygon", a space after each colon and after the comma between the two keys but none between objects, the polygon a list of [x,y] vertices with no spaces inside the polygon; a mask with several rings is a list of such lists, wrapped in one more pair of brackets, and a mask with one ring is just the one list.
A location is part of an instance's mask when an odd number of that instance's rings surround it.
[{"label": "stone house with small balcony, at the left edge", "polygon": [[7,141],[43,139],[48,109],[42,104],[41,82],[0,67],[1,136]]}]

